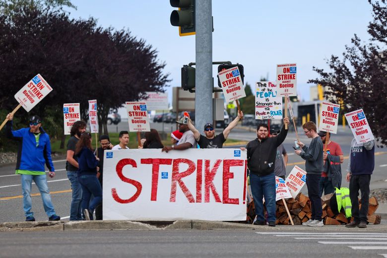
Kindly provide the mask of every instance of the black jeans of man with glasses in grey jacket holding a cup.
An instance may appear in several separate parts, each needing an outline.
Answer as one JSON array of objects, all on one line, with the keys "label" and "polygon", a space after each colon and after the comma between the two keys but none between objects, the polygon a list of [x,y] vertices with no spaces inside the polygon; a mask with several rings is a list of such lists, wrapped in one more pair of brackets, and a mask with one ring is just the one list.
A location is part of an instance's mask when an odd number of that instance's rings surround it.
[{"label": "black jeans of man with glasses in grey jacket holding a cup", "polygon": [[321,175],[307,174],[307,188],[309,199],[311,200],[312,217],[311,219],[323,220],[323,206],[320,197],[320,178]]}]

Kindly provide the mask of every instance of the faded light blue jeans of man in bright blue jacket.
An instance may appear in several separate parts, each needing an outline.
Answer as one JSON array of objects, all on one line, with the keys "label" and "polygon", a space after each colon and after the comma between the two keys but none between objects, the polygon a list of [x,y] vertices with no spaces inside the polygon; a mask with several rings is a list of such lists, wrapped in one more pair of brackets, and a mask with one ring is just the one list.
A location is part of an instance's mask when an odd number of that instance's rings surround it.
[{"label": "faded light blue jeans of man in bright blue jacket", "polygon": [[31,211],[32,198],[31,198],[31,186],[32,180],[34,180],[36,186],[39,189],[40,195],[43,200],[43,207],[47,216],[50,218],[55,215],[54,205],[51,201],[50,190],[47,186],[46,174],[44,175],[21,175],[21,189],[23,191],[23,208],[26,217],[34,216]]}]

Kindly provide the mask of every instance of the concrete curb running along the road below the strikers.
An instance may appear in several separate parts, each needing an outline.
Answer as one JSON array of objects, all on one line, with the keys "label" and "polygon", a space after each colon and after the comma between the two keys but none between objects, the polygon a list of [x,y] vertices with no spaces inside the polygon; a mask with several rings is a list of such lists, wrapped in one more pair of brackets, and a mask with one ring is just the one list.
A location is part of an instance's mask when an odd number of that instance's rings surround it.
[{"label": "concrete curb running along the road below the strikers", "polygon": [[81,230],[257,230],[257,231],[387,231],[386,221],[380,225],[368,225],[366,229],[346,228],[344,225],[323,227],[305,227],[301,225],[277,225],[276,227],[255,226],[251,224],[204,221],[204,220],[177,220],[177,221],[40,221],[40,222],[5,222],[0,223],[1,231],[81,231]]}]

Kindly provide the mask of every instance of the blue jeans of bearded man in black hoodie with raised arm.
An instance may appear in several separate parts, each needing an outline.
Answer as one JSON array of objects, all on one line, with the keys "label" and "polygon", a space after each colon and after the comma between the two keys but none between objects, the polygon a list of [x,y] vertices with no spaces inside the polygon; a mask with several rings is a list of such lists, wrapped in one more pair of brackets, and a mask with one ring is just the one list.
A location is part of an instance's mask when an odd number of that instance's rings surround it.
[{"label": "blue jeans of bearded man in black hoodie with raised arm", "polygon": [[250,173],[250,186],[256,206],[257,220],[265,221],[263,216],[263,201],[267,210],[267,220],[275,222],[275,175],[257,176]]}]

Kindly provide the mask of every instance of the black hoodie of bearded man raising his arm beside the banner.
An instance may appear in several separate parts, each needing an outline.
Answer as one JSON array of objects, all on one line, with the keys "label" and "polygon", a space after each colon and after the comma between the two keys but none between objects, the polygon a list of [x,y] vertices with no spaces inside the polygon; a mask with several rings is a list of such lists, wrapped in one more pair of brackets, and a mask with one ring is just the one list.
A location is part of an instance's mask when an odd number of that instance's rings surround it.
[{"label": "black hoodie of bearded man raising his arm beside the banner", "polygon": [[256,138],[247,146],[247,166],[250,173],[258,176],[266,176],[274,172],[277,147],[285,140],[288,130],[282,126],[281,132],[275,137],[268,137],[261,141]]}]

